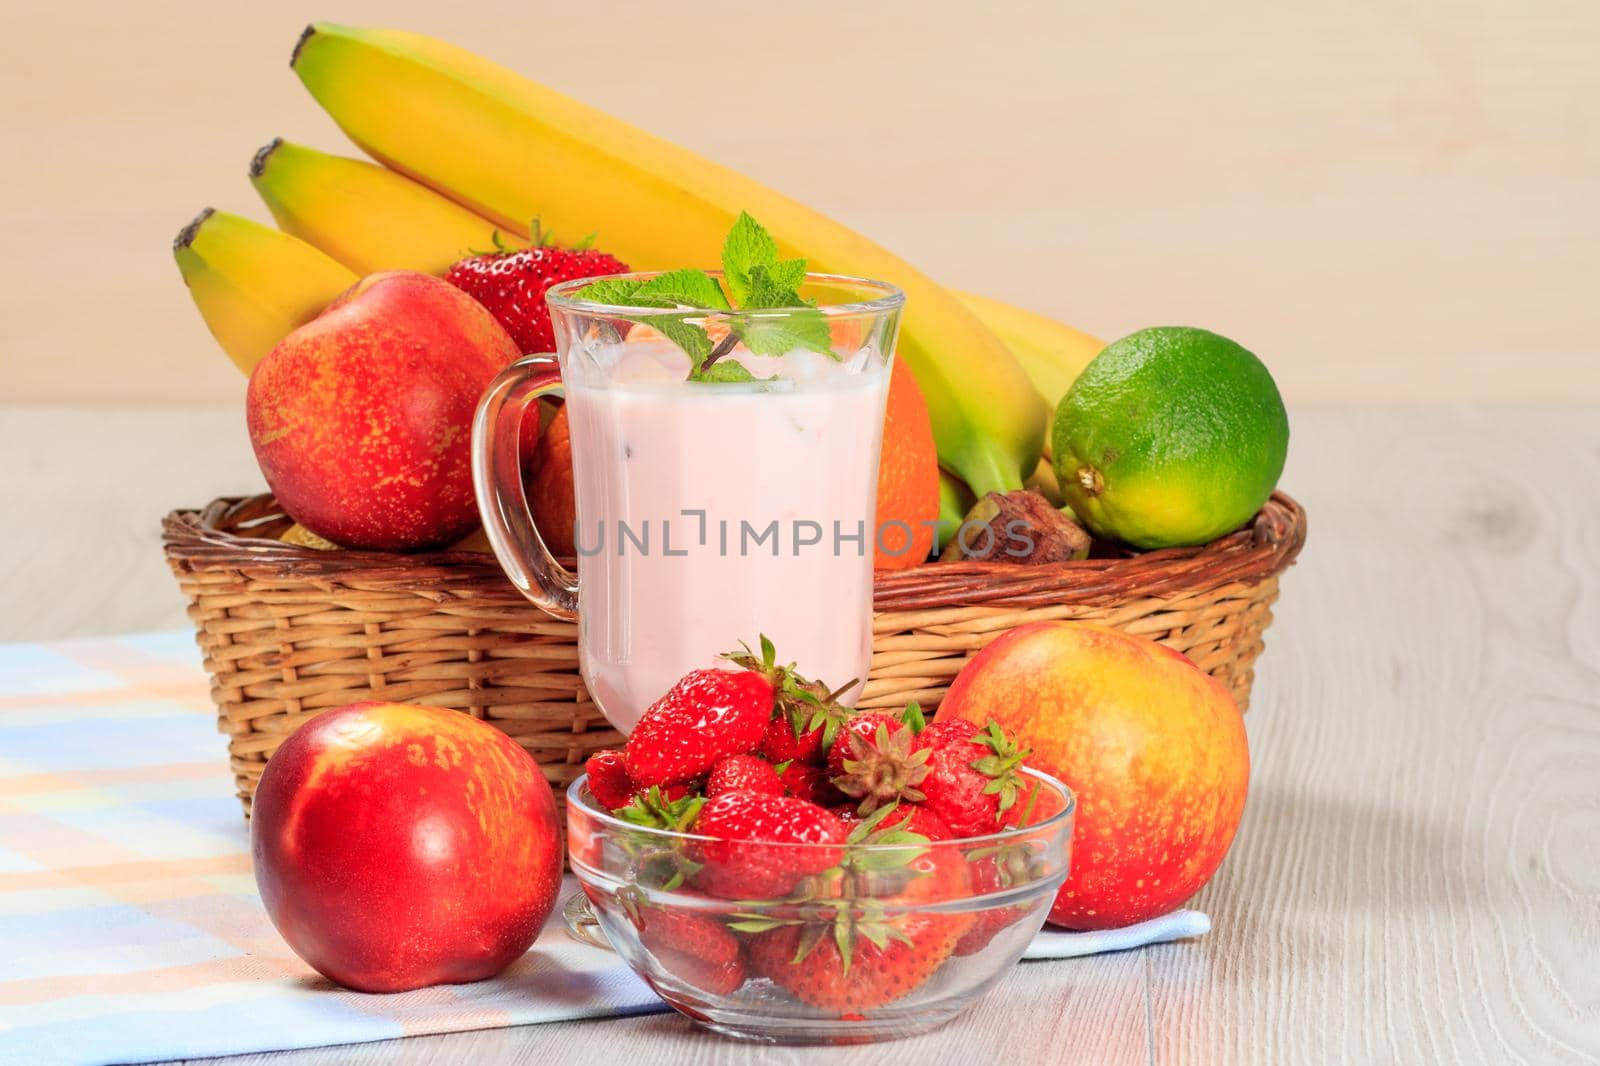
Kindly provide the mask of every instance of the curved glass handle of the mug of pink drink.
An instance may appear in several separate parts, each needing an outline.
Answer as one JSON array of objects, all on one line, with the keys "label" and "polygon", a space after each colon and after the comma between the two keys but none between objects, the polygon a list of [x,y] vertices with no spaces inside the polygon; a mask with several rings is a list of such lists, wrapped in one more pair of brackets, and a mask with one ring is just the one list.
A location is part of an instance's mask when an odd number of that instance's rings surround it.
[{"label": "curved glass handle of the mug of pink drink", "polygon": [[578,576],[546,547],[522,480],[523,418],[552,392],[562,392],[554,355],[518,359],[494,378],[472,418],[472,487],[483,531],[510,583],[546,615],[574,621]]}]

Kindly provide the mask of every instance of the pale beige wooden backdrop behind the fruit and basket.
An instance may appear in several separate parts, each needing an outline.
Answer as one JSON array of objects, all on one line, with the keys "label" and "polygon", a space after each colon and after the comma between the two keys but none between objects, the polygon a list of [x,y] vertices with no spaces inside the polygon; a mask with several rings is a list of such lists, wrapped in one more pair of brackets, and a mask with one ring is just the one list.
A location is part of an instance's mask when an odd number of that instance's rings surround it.
[{"label": "pale beige wooden backdrop behind the fruit and basket", "polygon": [[1293,403],[1600,399],[1600,5],[16,5],[0,400],[237,402],[168,243],[342,138],[314,18],[448,37],[1099,333],[1235,336]]}]

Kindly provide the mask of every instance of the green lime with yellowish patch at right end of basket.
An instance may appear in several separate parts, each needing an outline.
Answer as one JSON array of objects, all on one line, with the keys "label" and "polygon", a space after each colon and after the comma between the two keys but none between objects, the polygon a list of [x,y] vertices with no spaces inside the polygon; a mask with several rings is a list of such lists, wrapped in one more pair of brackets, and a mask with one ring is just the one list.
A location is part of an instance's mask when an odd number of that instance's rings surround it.
[{"label": "green lime with yellowish patch at right end of basket", "polygon": [[1206,330],[1139,330],[1094,357],[1056,408],[1061,491],[1098,536],[1205,544],[1250,520],[1283,474],[1272,375]]}]

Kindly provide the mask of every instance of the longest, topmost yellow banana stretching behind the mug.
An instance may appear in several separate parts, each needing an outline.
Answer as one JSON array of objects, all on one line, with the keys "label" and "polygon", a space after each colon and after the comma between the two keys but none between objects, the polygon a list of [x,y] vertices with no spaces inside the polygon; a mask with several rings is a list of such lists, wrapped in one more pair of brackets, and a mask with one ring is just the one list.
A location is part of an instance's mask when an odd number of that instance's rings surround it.
[{"label": "longest, topmost yellow banana stretching behind the mug", "polygon": [[715,262],[741,210],[813,271],[906,290],[899,351],[941,461],[979,491],[1021,487],[1048,411],[1006,347],[931,279],[848,227],[693,152],[442,42],[317,22],[291,66],[368,155],[514,232],[600,230],[637,269]]}]

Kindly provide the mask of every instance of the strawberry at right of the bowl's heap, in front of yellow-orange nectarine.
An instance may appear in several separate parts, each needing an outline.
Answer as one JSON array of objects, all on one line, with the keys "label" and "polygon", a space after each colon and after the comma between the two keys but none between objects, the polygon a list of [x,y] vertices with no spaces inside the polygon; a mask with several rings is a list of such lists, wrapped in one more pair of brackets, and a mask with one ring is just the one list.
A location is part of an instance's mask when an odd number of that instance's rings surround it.
[{"label": "strawberry at right of the bowl's heap, in front of yellow-orange nectarine", "polygon": [[1019,751],[997,722],[979,730],[963,719],[934,722],[920,739],[928,773],[918,787],[928,810],[957,837],[998,831],[1003,812],[1016,804],[1027,749]]}]

